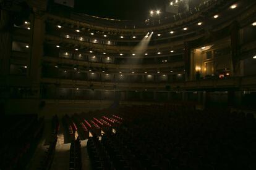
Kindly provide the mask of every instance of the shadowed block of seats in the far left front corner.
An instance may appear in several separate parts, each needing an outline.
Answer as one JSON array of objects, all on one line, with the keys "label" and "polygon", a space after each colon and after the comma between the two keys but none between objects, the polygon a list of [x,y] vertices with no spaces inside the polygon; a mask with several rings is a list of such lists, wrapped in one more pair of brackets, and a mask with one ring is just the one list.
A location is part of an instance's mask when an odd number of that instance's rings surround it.
[{"label": "shadowed block of seats in the far left front corner", "polygon": [[43,133],[43,118],[10,115],[0,118],[0,169],[25,169]]}]

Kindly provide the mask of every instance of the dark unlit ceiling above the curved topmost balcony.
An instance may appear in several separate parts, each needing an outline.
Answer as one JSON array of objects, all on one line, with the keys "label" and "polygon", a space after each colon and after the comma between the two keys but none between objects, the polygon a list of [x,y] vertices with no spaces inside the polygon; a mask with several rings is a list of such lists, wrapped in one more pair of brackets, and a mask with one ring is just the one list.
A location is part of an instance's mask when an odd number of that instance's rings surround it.
[{"label": "dark unlit ceiling above the curved topmost balcony", "polygon": [[150,10],[160,9],[168,0],[75,0],[75,11],[98,17],[146,20]]}]

